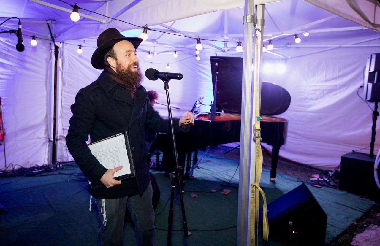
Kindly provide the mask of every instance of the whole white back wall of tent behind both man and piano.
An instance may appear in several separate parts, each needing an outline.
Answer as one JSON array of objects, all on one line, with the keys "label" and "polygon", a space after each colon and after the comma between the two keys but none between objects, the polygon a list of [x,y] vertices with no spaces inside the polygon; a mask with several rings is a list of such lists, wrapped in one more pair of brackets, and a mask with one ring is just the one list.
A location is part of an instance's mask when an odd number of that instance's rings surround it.
[{"label": "whole white back wall of tent behind both man and piano", "polygon": [[[335,42],[331,40],[331,43]],[[378,44],[378,41],[374,40],[370,44]],[[62,125],[58,128],[58,161],[73,160],[67,151],[65,136],[71,117],[70,106],[75,95],[101,73],[101,70],[90,65],[94,48],[84,47],[81,55],[77,54],[77,48],[63,45],[63,109]],[[287,56],[307,54],[319,49],[289,48],[281,52]],[[356,95],[356,91],[363,84],[363,67],[368,55],[376,52],[379,52],[377,47],[347,47],[287,60],[269,58],[274,56],[264,58],[263,81],[282,86],[292,97],[289,109],[279,115],[289,120],[287,143],[282,146],[280,156],[318,169],[334,169],[339,165],[341,155],[369,145],[372,112]],[[184,74],[184,79],[169,82],[171,104],[181,109],[172,109],[173,117],[180,117],[183,112],[191,109],[200,96],[205,97],[204,104],[212,102],[210,56],[215,55],[215,52],[204,50],[200,61],[196,61],[191,52],[179,53],[177,58],[171,54],[158,54],[148,59],[146,54],[138,51],[142,73],[147,68],[168,71],[164,63],[168,62],[170,72]],[[279,63],[285,66],[285,71],[266,73],[266,68]],[[147,90],[157,91],[158,102],[166,104],[166,94],[160,80],[150,81],[144,78],[142,85]],[[362,89],[359,90],[359,95],[361,94]],[[167,107],[156,105],[155,109],[163,118],[167,118]],[[209,106],[203,109],[207,111]],[[341,134],[336,134],[336,129]],[[377,124],[377,130],[379,129],[380,124]],[[375,150],[380,147],[378,142],[377,140]],[[270,146],[263,145],[271,150]]]}]

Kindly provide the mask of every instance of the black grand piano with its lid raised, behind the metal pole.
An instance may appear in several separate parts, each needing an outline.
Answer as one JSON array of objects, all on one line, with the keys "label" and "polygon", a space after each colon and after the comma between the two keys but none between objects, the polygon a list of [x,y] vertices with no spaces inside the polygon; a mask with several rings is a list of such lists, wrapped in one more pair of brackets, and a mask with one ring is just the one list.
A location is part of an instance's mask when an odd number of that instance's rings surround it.
[{"label": "black grand piano with its lid raised, behind the metal pole", "polygon": [[[186,156],[188,157],[185,179],[192,173],[189,170],[193,152],[193,164],[196,164],[199,149],[240,142],[242,58],[211,57],[211,72],[215,101],[212,112],[193,112],[196,115],[194,126],[188,132],[176,134],[179,165],[183,170]],[[290,101],[290,94],[284,88],[268,82],[261,83],[261,142],[272,145],[271,178],[276,177],[279,151],[286,142],[288,129],[288,120],[274,115],[285,112]],[[170,134],[158,134],[157,146],[164,153],[165,171],[173,171],[174,156]]]}]

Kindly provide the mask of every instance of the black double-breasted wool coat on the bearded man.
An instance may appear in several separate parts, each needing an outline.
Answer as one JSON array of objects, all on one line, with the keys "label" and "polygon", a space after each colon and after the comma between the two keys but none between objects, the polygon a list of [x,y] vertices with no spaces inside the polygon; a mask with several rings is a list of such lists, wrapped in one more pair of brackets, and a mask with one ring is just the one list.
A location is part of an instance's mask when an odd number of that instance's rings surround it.
[{"label": "black double-breasted wool coat on the bearded man", "polygon": [[[121,185],[106,188],[104,185],[89,188],[96,198],[116,199],[141,194],[149,185],[147,165],[148,148],[145,142],[145,128],[155,132],[170,132],[170,123],[163,120],[150,105],[144,87],[136,88],[134,98],[131,91],[117,84],[105,71],[90,85],[79,90],[71,105],[73,116],[66,136],[66,145],[81,171],[94,184],[106,172],[91,154],[86,141],[91,142],[128,132],[136,178],[122,180]],[[188,131],[189,126],[179,126],[173,119],[174,131]]]}]

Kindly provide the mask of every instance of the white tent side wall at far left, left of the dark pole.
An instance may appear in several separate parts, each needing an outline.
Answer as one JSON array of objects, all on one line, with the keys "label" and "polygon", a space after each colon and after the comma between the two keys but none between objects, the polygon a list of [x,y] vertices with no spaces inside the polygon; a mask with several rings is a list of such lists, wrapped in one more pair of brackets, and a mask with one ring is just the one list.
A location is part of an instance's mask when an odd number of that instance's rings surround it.
[{"label": "white tent side wall at far left, left of the dark pole", "polygon": [[[0,95],[6,129],[6,162],[15,168],[47,164],[49,134],[47,117],[50,61],[49,41],[38,46],[25,42],[25,51],[15,49],[17,37],[0,37]],[[16,166],[20,165],[20,166]],[[5,168],[0,146],[0,168]],[[12,168],[12,167],[10,167]]]}]

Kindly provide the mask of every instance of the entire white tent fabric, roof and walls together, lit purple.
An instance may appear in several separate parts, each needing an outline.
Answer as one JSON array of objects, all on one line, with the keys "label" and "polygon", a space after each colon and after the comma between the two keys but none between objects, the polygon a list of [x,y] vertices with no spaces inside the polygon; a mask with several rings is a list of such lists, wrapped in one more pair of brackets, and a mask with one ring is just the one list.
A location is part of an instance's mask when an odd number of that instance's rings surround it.
[{"label": "entire white tent fabric, roof and walls together, lit purple", "polygon": [[[205,104],[211,103],[210,56],[242,56],[235,50],[236,43],[226,45],[224,38],[234,42],[243,39],[244,1],[76,2],[83,9],[138,26],[148,25],[151,29],[177,35],[219,40],[202,41],[204,49],[199,55],[200,61],[195,60],[195,40],[192,38],[149,31],[148,40],[139,47],[142,71],[149,67],[165,71],[169,63],[170,71],[184,74],[184,79],[171,82],[170,87],[173,106],[181,108],[173,110],[176,117],[190,109],[200,96],[205,96]],[[281,148],[280,155],[320,169],[332,169],[339,164],[342,154],[367,147],[370,142],[371,111],[356,93],[359,90],[361,95],[359,86],[363,83],[366,58],[377,53],[380,46],[380,35],[372,30],[378,28],[374,14],[378,3],[367,0],[307,2],[285,0],[266,5],[264,43],[268,44],[271,38],[274,49],[264,53],[262,78],[282,86],[292,97],[287,112],[279,115],[289,120],[287,144]],[[345,8],[350,6],[348,2],[360,8],[355,8],[355,11],[351,7]],[[334,6],[339,13],[330,9]],[[71,161],[65,146],[70,105],[79,88],[90,84],[100,74],[100,70],[90,65],[90,57],[96,49],[96,36],[109,27],[128,30],[124,32],[126,36],[139,36],[141,33],[142,28],[132,29],[135,27],[83,9],[79,9],[79,13],[87,16],[74,23],[69,18],[70,5],[58,0],[3,3],[0,19],[21,17],[26,46],[24,52],[17,52],[14,49],[15,35],[0,36],[0,95],[4,101],[8,164],[12,162],[24,167],[47,164],[51,155],[49,141],[51,143],[53,134],[57,144],[56,160]],[[363,19],[363,14],[358,12],[365,13],[367,18]],[[49,80],[54,62],[50,58],[51,46],[48,40],[39,39],[49,39],[47,20],[54,20],[51,26],[56,44],[60,46],[63,42],[58,62],[55,109],[52,100],[54,88]],[[12,19],[0,28],[16,29],[17,21]],[[306,31],[309,36],[302,35]],[[301,43],[294,43],[294,34],[299,34]],[[36,47],[29,44],[32,35],[37,37]],[[83,45],[81,55],[76,53],[79,44]],[[225,46],[227,48],[223,48]],[[177,58],[173,57],[174,50],[179,54]],[[223,52],[226,50],[228,52]],[[148,51],[152,52],[151,59],[146,57]],[[165,103],[165,91],[160,82],[144,80],[142,84],[147,90],[158,91],[159,101]],[[165,106],[157,106],[156,109],[166,117]],[[54,110],[55,132],[51,113]],[[209,110],[209,107],[205,106],[204,110]],[[379,148],[377,143],[376,150]],[[0,161],[2,168],[5,163],[2,158]]]}]

